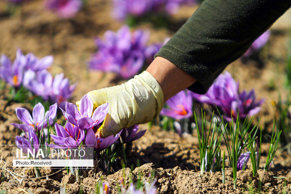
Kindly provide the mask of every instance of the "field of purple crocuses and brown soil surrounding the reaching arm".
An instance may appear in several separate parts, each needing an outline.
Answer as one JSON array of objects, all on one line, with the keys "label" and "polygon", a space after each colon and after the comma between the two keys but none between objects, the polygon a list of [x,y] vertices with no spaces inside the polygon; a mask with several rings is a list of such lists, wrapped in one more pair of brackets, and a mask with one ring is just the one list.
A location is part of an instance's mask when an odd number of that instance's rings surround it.
[{"label": "field of purple crocuses and brown soil surrounding the reaching arm", "polygon": [[[110,104],[85,94],[145,70],[201,1],[0,1],[0,194],[290,194],[290,11],[206,95],[95,136]],[[94,167],[13,167],[11,145],[92,146]]]}]

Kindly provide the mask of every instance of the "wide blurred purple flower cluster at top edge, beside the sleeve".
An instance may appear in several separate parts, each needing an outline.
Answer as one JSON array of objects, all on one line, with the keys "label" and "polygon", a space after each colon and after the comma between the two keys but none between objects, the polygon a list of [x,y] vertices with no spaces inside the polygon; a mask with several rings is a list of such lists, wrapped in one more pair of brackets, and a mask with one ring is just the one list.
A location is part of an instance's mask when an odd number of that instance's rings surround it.
[{"label": "wide blurred purple flower cluster at top edge, beside the sleeve", "polygon": [[194,3],[194,0],[113,0],[113,16],[124,20],[127,16],[141,17],[150,13],[172,15],[181,4]]}]

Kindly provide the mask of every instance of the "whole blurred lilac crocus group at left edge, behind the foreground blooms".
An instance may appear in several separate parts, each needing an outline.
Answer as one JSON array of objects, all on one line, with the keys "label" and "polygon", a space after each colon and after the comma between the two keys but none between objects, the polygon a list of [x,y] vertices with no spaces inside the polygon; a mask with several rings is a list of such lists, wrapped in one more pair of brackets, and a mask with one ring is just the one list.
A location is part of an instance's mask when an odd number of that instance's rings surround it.
[{"label": "whole blurred lilac crocus group at left edge, behind the foreground blooms", "polygon": [[52,56],[39,59],[32,53],[23,55],[18,49],[13,63],[6,55],[1,56],[0,78],[16,88],[24,86],[45,100],[57,102],[59,106],[64,107],[75,85],[70,85],[69,80],[64,79],[64,74],[53,78],[46,70],[52,63]]}]

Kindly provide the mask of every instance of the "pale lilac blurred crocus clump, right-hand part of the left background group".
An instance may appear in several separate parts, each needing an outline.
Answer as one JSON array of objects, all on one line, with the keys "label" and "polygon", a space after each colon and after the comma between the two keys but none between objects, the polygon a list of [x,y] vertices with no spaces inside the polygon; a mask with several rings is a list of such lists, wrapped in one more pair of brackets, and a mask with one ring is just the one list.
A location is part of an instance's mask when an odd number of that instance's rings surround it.
[{"label": "pale lilac blurred crocus clump, right-hand part of the left background group", "polygon": [[36,78],[29,81],[27,87],[43,99],[57,102],[59,107],[65,106],[65,101],[75,90],[75,85],[70,85],[69,80],[64,79],[63,73],[53,78],[47,70],[37,73]]}]

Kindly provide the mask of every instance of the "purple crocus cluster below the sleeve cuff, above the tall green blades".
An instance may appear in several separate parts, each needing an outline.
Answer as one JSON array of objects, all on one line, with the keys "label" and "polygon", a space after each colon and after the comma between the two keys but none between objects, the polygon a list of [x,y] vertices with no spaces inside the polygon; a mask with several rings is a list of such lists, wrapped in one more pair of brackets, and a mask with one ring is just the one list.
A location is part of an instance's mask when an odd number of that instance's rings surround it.
[{"label": "purple crocus cluster below the sleeve cuff, above the tall green blades", "polygon": [[205,95],[192,93],[192,96],[197,102],[220,108],[227,121],[237,116],[246,118],[259,113],[264,102],[264,99],[256,99],[254,90],[239,92],[239,83],[227,71],[214,81]]}]

